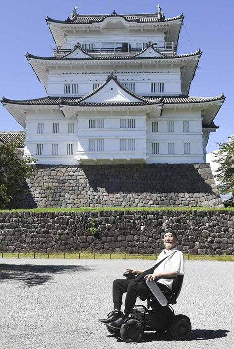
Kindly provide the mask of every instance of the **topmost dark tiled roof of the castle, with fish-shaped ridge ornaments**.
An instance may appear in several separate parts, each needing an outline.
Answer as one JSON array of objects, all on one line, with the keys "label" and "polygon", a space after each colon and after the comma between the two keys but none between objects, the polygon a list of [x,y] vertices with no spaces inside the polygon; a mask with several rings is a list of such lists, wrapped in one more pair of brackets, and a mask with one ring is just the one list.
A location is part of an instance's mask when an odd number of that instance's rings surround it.
[{"label": "topmost dark tiled roof of the castle, with fish-shaped ridge ornaments", "polygon": [[165,18],[161,16],[158,18],[158,13],[141,13],[141,14],[96,14],[96,15],[82,15],[76,14],[72,18],[67,18],[66,20],[56,20],[50,17],[46,18],[47,22],[54,23],[65,23],[65,24],[92,24],[101,23],[105,18],[109,17],[122,17],[127,22],[137,22],[137,23],[156,23],[156,22],[169,22],[172,20],[183,18],[183,14],[172,18]]}]

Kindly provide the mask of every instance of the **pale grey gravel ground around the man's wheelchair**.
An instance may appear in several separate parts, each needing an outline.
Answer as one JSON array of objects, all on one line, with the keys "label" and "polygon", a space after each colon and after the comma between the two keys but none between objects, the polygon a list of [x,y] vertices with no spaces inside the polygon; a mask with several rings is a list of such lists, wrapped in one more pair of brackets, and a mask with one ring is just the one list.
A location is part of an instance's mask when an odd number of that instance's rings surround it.
[{"label": "pale grey gravel ground around the man's wheelchair", "polygon": [[1,259],[0,349],[234,348],[233,262],[186,261],[174,309],[191,319],[188,341],[152,332],[145,333],[140,343],[127,344],[98,322],[112,310],[113,279],[122,277],[126,267],[143,269],[152,264]]}]

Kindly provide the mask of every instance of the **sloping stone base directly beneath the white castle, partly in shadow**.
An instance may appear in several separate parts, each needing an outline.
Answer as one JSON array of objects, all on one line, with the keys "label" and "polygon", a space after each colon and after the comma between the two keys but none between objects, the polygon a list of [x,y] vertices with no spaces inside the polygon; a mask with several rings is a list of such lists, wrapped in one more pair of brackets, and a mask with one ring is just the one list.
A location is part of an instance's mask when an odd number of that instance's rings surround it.
[{"label": "sloping stone base directly beneath the white castle, partly in shadow", "polygon": [[223,206],[209,164],[37,165],[14,206]]}]

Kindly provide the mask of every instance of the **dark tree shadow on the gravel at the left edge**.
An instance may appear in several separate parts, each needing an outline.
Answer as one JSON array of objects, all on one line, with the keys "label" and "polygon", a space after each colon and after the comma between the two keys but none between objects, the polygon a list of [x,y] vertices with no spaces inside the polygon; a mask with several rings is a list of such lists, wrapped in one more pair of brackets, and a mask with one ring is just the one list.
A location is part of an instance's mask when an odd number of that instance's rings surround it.
[{"label": "dark tree shadow on the gravel at the left edge", "polygon": [[0,264],[0,282],[19,281],[21,287],[31,287],[52,281],[54,274],[89,270],[84,265]]}]

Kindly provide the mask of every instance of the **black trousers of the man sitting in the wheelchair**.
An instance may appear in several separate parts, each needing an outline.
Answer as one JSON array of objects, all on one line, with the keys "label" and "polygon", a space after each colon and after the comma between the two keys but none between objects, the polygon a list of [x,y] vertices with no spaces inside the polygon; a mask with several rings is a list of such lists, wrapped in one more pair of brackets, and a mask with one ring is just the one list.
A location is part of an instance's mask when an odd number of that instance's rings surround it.
[{"label": "black trousers of the man sitting in the wheelchair", "polygon": [[[168,287],[157,283],[161,290],[167,290]],[[144,281],[136,282],[134,280],[116,279],[113,282],[113,303],[114,309],[120,310],[122,304],[122,295],[127,293],[125,297],[124,313],[128,315],[133,309],[137,296],[148,297],[151,293]]]}]

